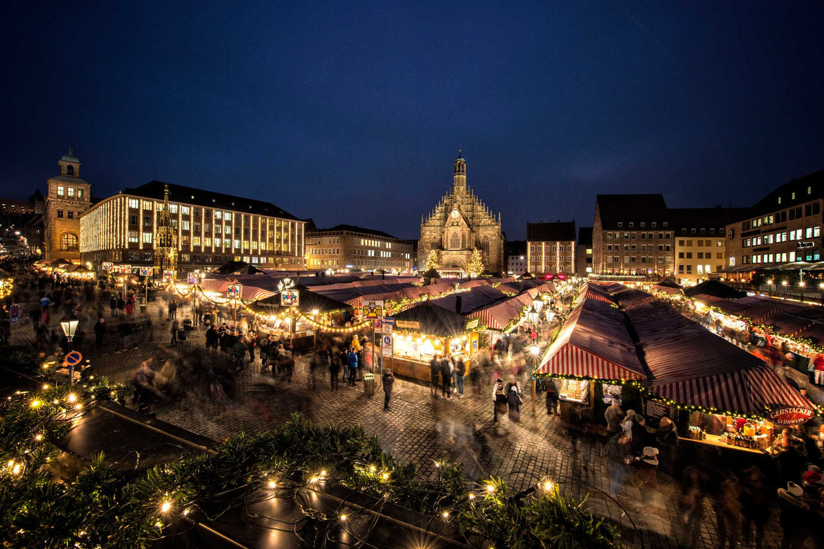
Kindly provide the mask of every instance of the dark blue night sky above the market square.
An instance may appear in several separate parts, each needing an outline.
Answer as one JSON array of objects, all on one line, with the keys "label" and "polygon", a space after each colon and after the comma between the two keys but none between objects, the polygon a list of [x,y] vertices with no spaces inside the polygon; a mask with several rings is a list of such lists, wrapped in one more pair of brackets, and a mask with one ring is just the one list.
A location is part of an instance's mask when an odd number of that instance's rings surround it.
[{"label": "dark blue night sky above the market square", "polygon": [[94,195],[418,237],[461,147],[514,239],[591,225],[597,193],[749,205],[824,168],[822,2],[85,3],[6,7],[4,196],[73,144]]}]

